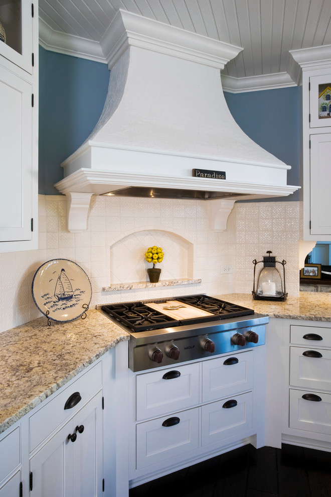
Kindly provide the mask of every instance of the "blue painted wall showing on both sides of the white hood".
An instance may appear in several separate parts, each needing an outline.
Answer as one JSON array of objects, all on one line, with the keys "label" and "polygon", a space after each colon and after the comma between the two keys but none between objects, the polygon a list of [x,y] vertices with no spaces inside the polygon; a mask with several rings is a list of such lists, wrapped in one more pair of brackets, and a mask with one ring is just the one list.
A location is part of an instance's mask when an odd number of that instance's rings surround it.
[{"label": "blue painted wall showing on both sides of the white hood", "polygon": [[[39,193],[59,194],[60,164],[93,131],[106,98],[106,64],[39,50]],[[225,93],[243,131],[292,166],[287,184],[299,185],[299,90],[297,87]],[[271,199],[274,200],[274,199]],[[297,192],[279,200],[298,200]]]}]

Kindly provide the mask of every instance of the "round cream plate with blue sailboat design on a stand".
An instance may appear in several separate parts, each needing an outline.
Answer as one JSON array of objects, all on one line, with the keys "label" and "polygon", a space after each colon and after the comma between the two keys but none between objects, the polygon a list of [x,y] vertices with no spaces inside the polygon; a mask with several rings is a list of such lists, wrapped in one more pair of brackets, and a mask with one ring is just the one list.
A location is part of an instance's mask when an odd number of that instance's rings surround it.
[{"label": "round cream plate with blue sailboat design on a stand", "polygon": [[38,309],[54,321],[73,321],[88,308],[92,288],[85,271],[68,259],[52,259],[37,270],[32,297]]}]

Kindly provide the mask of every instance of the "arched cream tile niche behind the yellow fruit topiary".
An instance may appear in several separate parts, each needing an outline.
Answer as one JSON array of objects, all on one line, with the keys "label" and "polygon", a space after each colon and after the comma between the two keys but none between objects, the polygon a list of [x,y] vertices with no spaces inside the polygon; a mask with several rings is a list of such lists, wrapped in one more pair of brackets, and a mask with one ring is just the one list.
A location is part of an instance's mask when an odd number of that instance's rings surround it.
[{"label": "arched cream tile niche behind the yellow fruit topiary", "polygon": [[163,229],[143,229],[122,235],[109,247],[109,284],[148,281],[144,254],[149,246],[162,247],[164,258],[155,268],[160,280],[193,278],[194,244],[179,233]]}]

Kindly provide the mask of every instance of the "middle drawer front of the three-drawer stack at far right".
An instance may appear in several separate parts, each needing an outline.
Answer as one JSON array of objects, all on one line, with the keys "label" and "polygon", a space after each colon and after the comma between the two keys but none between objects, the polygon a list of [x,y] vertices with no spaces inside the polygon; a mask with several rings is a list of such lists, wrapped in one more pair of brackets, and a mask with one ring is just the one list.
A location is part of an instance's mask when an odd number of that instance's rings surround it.
[{"label": "middle drawer front of the three-drawer stack at far right", "polygon": [[331,390],[331,350],[290,347],[290,385]]}]

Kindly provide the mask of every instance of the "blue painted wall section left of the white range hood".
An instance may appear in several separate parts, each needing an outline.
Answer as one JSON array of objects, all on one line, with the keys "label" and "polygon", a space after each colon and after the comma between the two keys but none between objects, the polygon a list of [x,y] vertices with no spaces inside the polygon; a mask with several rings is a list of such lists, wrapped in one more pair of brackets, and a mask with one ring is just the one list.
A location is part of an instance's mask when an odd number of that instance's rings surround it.
[{"label": "blue painted wall section left of the white range hood", "polygon": [[107,64],[39,47],[39,193],[59,195],[60,166],[93,131],[105,102]]}]

